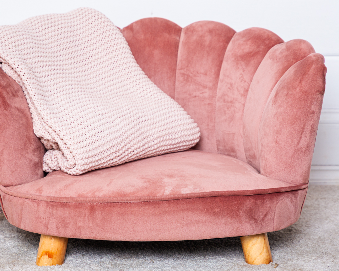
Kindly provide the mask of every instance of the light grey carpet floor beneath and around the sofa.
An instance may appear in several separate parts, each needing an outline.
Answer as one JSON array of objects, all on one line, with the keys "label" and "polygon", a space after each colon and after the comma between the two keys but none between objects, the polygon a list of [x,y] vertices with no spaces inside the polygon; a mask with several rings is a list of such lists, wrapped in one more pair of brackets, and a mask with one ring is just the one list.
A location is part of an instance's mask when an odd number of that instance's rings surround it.
[{"label": "light grey carpet floor beneath and around the sofa", "polygon": [[268,233],[274,265],[245,263],[239,237],[176,242],[69,239],[65,263],[35,265],[40,235],[0,214],[0,270],[339,270],[339,186],[310,185],[294,225]]}]

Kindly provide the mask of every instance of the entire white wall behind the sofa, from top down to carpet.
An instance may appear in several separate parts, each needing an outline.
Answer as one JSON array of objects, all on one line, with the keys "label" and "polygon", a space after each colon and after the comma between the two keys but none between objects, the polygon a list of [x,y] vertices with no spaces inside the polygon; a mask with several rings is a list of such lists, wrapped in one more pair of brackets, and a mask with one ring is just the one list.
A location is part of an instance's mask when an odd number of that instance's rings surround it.
[{"label": "entire white wall behind the sofa, from top down to carpet", "polygon": [[325,56],[326,91],[313,156],[311,182],[339,184],[339,1],[338,0],[58,0],[1,1],[0,25],[31,16],[96,8],[117,26],[145,17],[163,17],[184,27],[200,20],[225,23],[236,31],[258,26],[285,41],[301,38]]}]

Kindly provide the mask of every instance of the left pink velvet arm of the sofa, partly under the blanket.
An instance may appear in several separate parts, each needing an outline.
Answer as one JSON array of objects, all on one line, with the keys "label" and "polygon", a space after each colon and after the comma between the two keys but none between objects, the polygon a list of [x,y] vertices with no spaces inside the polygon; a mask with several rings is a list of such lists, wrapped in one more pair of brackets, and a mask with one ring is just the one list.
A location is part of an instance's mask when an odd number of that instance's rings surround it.
[{"label": "left pink velvet arm of the sofa, partly under the blanket", "polygon": [[21,87],[0,69],[0,184],[12,186],[42,178],[45,151],[33,132]]}]

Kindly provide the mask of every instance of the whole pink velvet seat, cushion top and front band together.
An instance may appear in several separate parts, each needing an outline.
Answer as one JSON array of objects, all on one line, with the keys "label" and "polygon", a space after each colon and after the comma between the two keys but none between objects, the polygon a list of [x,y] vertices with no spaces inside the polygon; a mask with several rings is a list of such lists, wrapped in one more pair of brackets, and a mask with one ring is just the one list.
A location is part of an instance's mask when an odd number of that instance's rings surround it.
[{"label": "whole pink velvet seat, cushion top and front band together", "polygon": [[0,194],[8,221],[28,231],[165,241],[285,228],[299,218],[306,187],[260,175],[226,155],[187,150],[78,176],[55,171],[1,186]]}]

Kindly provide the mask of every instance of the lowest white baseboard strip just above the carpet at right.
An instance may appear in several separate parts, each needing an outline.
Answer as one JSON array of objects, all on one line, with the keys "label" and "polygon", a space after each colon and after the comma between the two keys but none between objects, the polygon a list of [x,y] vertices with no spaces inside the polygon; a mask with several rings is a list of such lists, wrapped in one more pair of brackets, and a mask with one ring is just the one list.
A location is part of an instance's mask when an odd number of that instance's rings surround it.
[{"label": "lowest white baseboard strip just above the carpet at right", "polygon": [[310,184],[339,185],[339,166],[312,166]]}]

